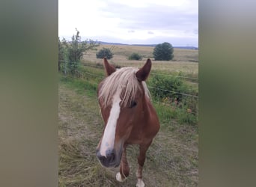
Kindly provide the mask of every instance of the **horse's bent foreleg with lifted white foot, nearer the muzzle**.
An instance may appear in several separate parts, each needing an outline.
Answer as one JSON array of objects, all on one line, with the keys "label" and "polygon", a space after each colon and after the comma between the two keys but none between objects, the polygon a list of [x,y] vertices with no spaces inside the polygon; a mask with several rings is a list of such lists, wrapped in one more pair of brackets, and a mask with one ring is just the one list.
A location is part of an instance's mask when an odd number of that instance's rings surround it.
[{"label": "horse's bent foreleg with lifted white foot, nearer the muzzle", "polygon": [[115,178],[119,182],[124,182],[124,180],[128,176],[129,176],[129,165],[127,162],[127,146],[124,146],[119,173],[116,174]]}]

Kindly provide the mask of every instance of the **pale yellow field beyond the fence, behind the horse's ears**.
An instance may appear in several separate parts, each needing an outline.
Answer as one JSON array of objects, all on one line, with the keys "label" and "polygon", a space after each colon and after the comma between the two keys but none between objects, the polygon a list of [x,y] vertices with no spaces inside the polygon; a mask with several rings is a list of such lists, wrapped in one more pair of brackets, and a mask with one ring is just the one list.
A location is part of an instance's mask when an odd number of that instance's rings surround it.
[{"label": "pale yellow field beyond the fence, behind the horse's ears", "polygon": [[[153,60],[153,46],[129,46],[129,45],[100,45],[97,50],[112,48],[114,57],[110,63],[121,67],[141,67],[147,58]],[[97,51],[90,51],[84,55],[84,61],[95,64],[102,64],[103,60],[96,58]],[[133,52],[143,56],[142,61],[129,61],[128,57]],[[162,73],[183,72],[188,75],[198,75],[198,50],[174,48],[172,61],[152,61],[152,70],[160,70]]]}]

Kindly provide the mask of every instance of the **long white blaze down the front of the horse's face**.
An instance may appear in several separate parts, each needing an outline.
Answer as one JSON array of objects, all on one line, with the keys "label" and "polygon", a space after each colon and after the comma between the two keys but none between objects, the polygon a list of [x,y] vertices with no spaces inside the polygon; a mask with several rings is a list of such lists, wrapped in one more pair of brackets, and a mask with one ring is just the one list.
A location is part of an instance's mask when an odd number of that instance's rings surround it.
[{"label": "long white blaze down the front of the horse's face", "polygon": [[113,150],[114,149],[114,143],[115,143],[115,129],[118,123],[118,117],[120,114],[120,105],[121,102],[119,91],[115,93],[113,96],[112,101],[112,108],[110,110],[108,123],[106,124],[106,128],[104,130],[103,134],[103,140],[101,141],[100,145],[100,154],[102,156],[106,156],[107,150]]}]

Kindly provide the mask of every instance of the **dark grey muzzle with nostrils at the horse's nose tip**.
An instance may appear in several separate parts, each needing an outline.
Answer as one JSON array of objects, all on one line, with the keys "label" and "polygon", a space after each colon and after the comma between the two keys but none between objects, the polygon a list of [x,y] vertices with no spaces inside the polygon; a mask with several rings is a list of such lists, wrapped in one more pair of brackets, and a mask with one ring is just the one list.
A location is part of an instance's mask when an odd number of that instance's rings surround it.
[{"label": "dark grey muzzle with nostrils at the horse's nose tip", "polygon": [[115,150],[107,150],[106,156],[102,156],[99,150],[97,150],[96,153],[100,163],[106,168],[118,167],[120,164],[121,156],[118,156]]}]

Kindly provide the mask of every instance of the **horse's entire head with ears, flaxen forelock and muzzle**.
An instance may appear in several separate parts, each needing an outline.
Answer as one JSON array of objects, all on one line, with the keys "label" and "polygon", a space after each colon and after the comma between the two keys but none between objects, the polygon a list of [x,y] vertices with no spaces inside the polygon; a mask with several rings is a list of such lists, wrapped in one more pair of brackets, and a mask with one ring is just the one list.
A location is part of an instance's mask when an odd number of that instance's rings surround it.
[{"label": "horse's entire head with ears, flaxen forelock and muzzle", "polygon": [[97,157],[109,168],[120,164],[124,142],[144,115],[149,97],[144,81],[150,73],[151,61],[147,59],[139,70],[132,67],[116,70],[104,58],[104,67],[107,77],[100,82],[98,99],[105,129],[97,146]]}]

